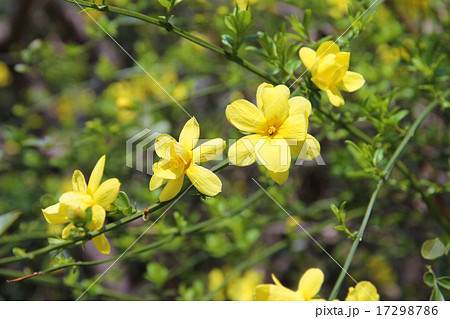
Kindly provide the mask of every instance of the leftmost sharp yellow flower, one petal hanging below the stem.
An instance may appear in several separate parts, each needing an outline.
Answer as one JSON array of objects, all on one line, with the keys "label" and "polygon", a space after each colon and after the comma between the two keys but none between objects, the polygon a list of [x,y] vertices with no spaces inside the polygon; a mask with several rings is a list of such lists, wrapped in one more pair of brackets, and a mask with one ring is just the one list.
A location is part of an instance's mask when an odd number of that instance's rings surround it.
[{"label": "leftmost sharp yellow flower, one petal hanging below the stem", "polygon": [[[86,220],[86,210],[90,207],[92,216],[87,225],[89,230],[102,228],[105,222],[106,211],[111,210],[111,204],[117,198],[120,182],[117,178],[110,178],[100,184],[105,168],[105,155],[103,155],[89,178],[86,185],[83,173],[76,170],[72,176],[72,191],[66,192],[59,198],[59,203],[42,210],[44,217],[50,224],[65,224],[70,222],[62,231],[62,238],[67,238],[76,231],[74,223]],[[92,239],[99,252],[109,255],[110,246],[104,234]]]}]

